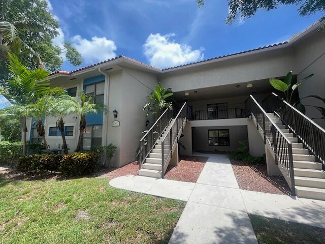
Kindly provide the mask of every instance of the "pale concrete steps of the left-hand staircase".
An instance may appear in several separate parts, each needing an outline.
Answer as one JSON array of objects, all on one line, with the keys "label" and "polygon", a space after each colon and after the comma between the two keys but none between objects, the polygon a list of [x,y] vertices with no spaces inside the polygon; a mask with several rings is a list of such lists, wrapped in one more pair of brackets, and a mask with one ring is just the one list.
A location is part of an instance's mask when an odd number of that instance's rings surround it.
[{"label": "pale concrete steps of the left-hand staircase", "polygon": [[[154,177],[154,178],[161,178],[162,172],[162,157],[161,157],[161,140],[163,139],[166,133],[171,128],[175,118],[173,118],[169,126],[166,127],[163,134],[161,134],[160,138],[157,140],[154,148],[151,150],[149,156],[146,158],[146,162],[142,165],[142,168],[139,170],[139,175]],[[165,142],[166,143],[166,142]],[[168,162],[167,162],[168,163]]]}]

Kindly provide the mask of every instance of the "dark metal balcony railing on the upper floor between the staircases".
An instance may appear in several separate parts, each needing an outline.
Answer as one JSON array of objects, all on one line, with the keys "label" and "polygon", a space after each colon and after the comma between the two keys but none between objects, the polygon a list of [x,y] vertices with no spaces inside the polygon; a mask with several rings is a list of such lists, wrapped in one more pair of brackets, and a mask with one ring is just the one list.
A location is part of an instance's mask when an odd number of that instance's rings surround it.
[{"label": "dark metal balcony railing on the upper floor between the staircases", "polygon": [[217,105],[205,107],[192,107],[191,120],[224,119],[224,118],[244,118],[245,110],[242,108],[222,108]]}]

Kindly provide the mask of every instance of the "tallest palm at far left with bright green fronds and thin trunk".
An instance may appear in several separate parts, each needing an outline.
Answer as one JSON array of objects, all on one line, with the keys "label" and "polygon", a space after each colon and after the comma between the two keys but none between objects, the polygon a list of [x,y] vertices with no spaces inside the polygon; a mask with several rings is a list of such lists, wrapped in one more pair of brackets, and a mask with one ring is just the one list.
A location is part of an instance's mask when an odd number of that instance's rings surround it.
[{"label": "tallest palm at far left with bright green fronds and thin trunk", "polygon": [[[21,64],[15,54],[9,55],[10,78],[4,81],[4,90],[1,92],[11,104],[26,106],[35,104],[38,99],[47,95],[61,95],[64,91],[59,87],[50,88],[49,72],[44,69],[28,70]],[[21,114],[21,129],[23,154],[26,154],[26,114]]]}]

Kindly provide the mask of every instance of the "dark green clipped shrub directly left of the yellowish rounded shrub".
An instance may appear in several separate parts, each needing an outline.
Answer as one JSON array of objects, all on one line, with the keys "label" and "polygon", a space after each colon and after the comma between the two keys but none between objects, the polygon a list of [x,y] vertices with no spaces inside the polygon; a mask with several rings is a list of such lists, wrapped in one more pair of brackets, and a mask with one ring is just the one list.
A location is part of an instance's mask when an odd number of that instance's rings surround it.
[{"label": "dark green clipped shrub directly left of the yellowish rounded shrub", "polygon": [[56,172],[61,162],[61,155],[24,155],[19,158],[17,169],[25,173]]}]

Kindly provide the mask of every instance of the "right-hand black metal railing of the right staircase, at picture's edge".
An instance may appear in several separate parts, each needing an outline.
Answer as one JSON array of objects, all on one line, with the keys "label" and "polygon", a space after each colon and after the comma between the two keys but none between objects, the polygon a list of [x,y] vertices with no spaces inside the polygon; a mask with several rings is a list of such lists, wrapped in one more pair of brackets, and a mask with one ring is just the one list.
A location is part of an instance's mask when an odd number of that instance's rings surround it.
[{"label": "right-hand black metal railing of the right staircase, at picture's edge", "polygon": [[272,93],[268,100],[271,100],[269,102],[272,104],[271,111],[281,118],[283,124],[294,133],[325,169],[325,129],[275,93]]}]

